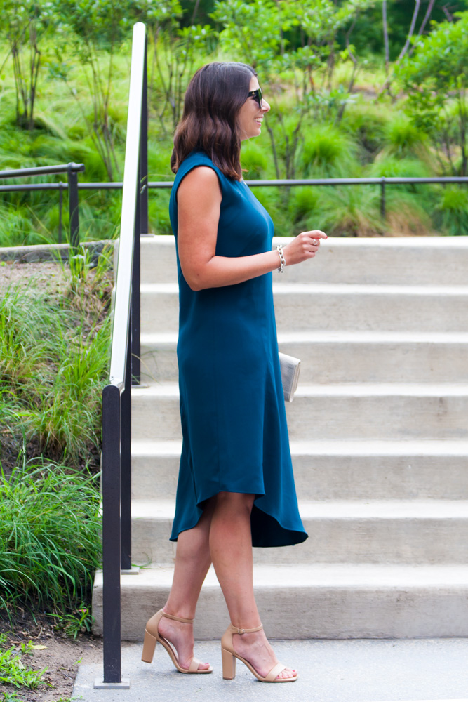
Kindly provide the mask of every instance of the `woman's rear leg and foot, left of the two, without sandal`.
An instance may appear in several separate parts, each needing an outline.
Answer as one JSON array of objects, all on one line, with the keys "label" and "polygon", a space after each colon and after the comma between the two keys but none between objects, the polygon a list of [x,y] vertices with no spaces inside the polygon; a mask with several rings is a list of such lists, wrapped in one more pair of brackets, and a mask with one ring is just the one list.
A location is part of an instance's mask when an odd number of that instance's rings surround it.
[{"label": "woman's rear leg and foot, left of the two, without sandal", "polygon": [[[182,531],[178,536],[173,585],[163,607],[168,614],[185,619],[195,617],[201,585],[211,563],[209,532],[212,511],[212,506],[207,505],[196,527]],[[188,668],[194,656],[193,625],[162,617],[159,633],[175,647],[181,668]],[[200,663],[199,668],[203,670],[209,665]]]}]

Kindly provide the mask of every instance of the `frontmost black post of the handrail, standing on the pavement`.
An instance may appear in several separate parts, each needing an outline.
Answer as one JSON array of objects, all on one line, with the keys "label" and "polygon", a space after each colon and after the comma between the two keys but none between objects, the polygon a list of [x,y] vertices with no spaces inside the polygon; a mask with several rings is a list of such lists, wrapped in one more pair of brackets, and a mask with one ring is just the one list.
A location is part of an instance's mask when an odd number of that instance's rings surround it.
[{"label": "frontmost black post of the handrail, standing on the pavement", "polygon": [[120,433],[116,385],[102,390],[102,630],[104,682],[121,682]]}]

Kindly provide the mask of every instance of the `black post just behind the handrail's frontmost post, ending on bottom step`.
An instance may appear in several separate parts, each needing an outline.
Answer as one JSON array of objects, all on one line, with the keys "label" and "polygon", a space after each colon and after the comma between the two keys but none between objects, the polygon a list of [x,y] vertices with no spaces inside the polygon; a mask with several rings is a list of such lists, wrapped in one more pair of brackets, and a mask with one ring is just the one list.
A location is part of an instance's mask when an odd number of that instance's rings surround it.
[{"label": "black post just behind the handrail's frontmost post, ending on bottom step", "polygon": [[128,324],[127,356],[125,369],[125,390],[121,395],[120,423],[120,534],[121,534],[121,569],[132,568],[132,522],[131,522],[131,491],[132,491],[132,407],[131,407],[131,372],[132,372],[132,321]]}]

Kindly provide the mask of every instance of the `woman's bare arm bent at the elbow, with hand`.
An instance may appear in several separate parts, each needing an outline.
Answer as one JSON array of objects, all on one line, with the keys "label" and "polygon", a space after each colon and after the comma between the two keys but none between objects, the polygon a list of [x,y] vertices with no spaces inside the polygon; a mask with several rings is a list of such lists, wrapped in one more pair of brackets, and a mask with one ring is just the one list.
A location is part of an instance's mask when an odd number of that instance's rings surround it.
[{"label": "woman's bare arm bent at the elbow, with hand", "polygon": [[[213,168],[199,166],[187,173],[178,189],[178,252],[180,267],[192,290],[242,283],[279,267],[277,251],[253,256],[216,256],[221,190]],[[286,265],[314,258],[326,234],[302,232],[284,247]],[[312,242],[316,240],[318,244]]]}]

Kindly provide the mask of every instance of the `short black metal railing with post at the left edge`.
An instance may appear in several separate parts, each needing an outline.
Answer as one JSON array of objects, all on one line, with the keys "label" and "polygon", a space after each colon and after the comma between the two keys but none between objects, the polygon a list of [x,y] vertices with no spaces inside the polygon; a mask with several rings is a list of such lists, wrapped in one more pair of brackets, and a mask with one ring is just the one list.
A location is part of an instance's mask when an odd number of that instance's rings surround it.
[{"label": "short black metal railing with post at the left edge", "polygon": [[66,164],[65,166],[36,166],[34,168],[16,168],[13,171],[0,171],[0,178],[26,178],[28,176],[57,176],[67,173],[67,183],[11,183],[0,185],[0,192],[27,190],[58,190],[58,243],[62,243],[62,204],[63,191],[68,190],[69,241],[72,249],[79,246],[79,209],[78,209],[78,173],[84,171],[84,164]]}]

